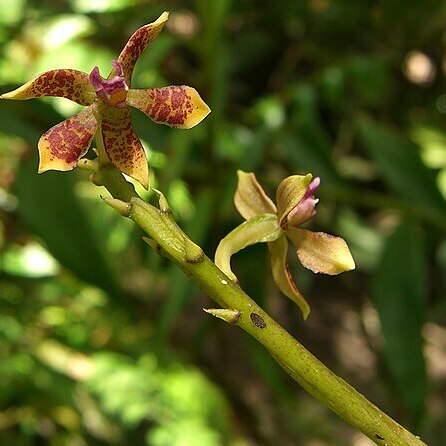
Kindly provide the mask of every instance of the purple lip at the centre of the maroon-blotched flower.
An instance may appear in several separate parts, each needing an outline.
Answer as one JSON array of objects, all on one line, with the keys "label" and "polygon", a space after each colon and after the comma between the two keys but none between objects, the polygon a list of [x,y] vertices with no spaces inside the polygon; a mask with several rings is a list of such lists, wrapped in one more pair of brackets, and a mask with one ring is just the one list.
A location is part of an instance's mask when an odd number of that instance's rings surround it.
[{"label": "purple lip at the centre of the maroon-blotched flower", "polygon": [[112,61],[117,75],[110,80],[105,80],[99,74],[99,68],[94,67],[90,73],[90,82],[96,90],[97,96],[104,102],[114,107],[124,108],[126,106],[127,92],[129,87],[125,81],[122,66],[117,61]]}]

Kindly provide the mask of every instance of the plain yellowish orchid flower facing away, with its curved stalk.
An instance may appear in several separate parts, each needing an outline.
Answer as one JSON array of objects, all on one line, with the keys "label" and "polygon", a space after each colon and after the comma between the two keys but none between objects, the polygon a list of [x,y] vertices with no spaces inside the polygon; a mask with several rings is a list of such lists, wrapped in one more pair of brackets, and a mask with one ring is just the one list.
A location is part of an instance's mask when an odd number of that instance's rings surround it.
[{"label": "plain yellowish orchid flower facing away, with its curved stalk", "polygon": [[263,190],[253,173],[238,171],[235,207],[245,218],[219,244],[216,265],[232,280],[231,256],[247,246],[266,242],[271,256],[274,280],[287,297],[301,309],[304,319],[310,307],[297,289],[287,262],[288,241],[291,240],[302,265],[314,273],[339,274],[355,268],[347,243],[340,237],[312,232],[299,226],[316,214],[314,192],[320,179],[308,175],[285,178],[277,189],[277,207]]}]

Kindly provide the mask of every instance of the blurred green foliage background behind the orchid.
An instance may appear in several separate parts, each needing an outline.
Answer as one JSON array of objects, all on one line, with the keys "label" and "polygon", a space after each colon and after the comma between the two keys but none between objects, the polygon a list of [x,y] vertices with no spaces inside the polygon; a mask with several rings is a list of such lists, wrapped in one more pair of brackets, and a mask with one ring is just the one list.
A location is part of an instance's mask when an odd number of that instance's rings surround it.
[{"label": "blurred green foliage background behind the orchid", "polygon": [[[241,222],[236,170],[274,190],[322,178],[312,227],[357,270],[292,265],[307,322],[263,246],[242,286],[337,373],[415,429],[446,437],[444,2],[0,0],[0,92],[53,68],[110,68],[171,11],[137,88],[187,84],[212,108],[190,131],[134,113],[152,184],[206,253]],[[37,140],[76,106],[0,103],[0,443],[365,444],[148,251],[84,172],[37,175]],[[149,194],[141,191],[149,198]],[[442,440],[443,439],[443,440]]]}]

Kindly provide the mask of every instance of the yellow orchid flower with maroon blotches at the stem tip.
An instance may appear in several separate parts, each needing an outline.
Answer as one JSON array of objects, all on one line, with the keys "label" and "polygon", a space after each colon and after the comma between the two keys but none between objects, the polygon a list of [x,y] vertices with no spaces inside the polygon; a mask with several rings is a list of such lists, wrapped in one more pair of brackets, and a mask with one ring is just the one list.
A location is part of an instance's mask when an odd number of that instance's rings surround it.
[{"label": "yellow orchid flower with maroon blotches at the stem tip", "polygon": [[194,88],[170,86],[130,89],[135,64],[145,48],[163,29],[169,14],[139,28],[128,40],[107,79],[98,67],[90,75],[72,69],[51,70],[37,76],[1,99],[32,99],[56,96],[87,108],[45,132],[39,140],[39,173],[71,170],[88,151],[100,131],[108,160],[121,172],[149,184],[147,159],[130,120],[130,107],[160,124],[191,128],[210,112]]}]

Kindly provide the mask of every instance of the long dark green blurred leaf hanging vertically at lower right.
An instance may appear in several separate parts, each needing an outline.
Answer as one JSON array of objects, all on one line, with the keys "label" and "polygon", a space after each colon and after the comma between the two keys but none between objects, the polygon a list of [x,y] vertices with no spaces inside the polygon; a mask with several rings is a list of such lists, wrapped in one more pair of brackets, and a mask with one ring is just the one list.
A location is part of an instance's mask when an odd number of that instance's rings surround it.
[{"label": "long dark green blurred leaf hanging vertically at lower right", "polygon": [[384,337],[384,357],[414,422],[424,410],[427,382],[421,329],[426,301],[423,234],[402,224],[388,238],[371,295]]}]

